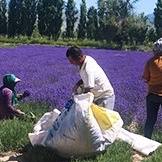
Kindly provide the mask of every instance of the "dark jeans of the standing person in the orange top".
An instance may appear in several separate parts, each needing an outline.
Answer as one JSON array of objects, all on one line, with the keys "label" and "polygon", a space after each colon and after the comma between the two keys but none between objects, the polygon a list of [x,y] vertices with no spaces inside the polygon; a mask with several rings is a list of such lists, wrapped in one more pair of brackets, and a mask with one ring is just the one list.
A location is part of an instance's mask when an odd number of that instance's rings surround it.
[{"label": "dark jeans of the standing person in the orange top", "polygon": [[157,121],[157,115],[160,106],[162,105],[162,96],[156,94],[148,94],[146,97],[147,118],[144,127],[144,136],[152,137],[153,129]]}]

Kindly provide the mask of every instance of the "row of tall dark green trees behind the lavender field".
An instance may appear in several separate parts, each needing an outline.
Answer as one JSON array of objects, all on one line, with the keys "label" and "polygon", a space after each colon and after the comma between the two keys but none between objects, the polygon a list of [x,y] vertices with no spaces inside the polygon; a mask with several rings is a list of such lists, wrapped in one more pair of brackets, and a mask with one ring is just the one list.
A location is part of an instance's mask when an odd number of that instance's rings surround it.
[{"label": "row of tall dark green trees behind the lavender field", "polygon": [[[82,0],[0,0],[0,35],[31,37],[35,28],[42,37],[57,41],[89,39],[136,45],[162,37],[162,0],[157,0],[154,20],[136,14],[138,0],[98,0],[87,8]],[[63,25],[64,24],[64,25]]]}]

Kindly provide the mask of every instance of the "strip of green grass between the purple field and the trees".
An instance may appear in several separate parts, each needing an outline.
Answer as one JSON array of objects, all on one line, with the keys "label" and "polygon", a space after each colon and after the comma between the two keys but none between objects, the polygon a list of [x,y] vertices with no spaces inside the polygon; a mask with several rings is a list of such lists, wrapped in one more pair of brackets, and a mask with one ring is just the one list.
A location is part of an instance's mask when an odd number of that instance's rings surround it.
[{"label": "strip of green grass between the purple field and the trees", "polygon": [[[53,45],[53,46],[74,46],[79,47],[91,47],[91,48],[104,48],[104,49],[119,49],[120,47],[115,43],[107,43],[106,41],[94,41],[94,40],[77,40],[77,39],[63,39],[60,38],[58,41],[49,40],[46,37],[32,37],[19,36],[15,38],[0,37],[0,47],[13,47],[23,44],[42,44],[42,45]],[[123,45],[121,50],[139,50],[139,51],[152,51],[152,44],[145,43],[145,45]]]}]

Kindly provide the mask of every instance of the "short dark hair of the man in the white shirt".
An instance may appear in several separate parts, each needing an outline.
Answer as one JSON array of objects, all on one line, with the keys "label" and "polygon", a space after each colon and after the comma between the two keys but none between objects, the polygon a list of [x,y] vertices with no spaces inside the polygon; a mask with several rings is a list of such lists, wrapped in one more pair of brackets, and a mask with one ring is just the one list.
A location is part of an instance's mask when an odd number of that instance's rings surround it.
[{"label": "short dark hair of the man in the white shirt", "polygon": [[77,60],[79,56],[83,56],[82,50],[77,46],[70,47],[66,52],[66,57],[71,56],[73,60]]}]

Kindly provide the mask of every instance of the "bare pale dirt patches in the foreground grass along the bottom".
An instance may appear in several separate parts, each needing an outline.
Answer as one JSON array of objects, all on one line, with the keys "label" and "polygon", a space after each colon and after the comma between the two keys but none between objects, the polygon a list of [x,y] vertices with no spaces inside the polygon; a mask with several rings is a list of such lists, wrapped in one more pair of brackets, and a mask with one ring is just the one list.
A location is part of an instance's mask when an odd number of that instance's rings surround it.
[{"label": "bare pale dirt patches in the foreground grass along the bottom", "polygon": [[[132,156],[132,162],[141,162],[145,157],[137,152]],[[23,162],[23,154],[17,152],[0,153],[0,162]]]}]

